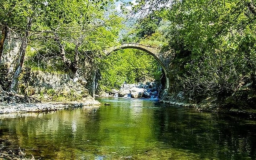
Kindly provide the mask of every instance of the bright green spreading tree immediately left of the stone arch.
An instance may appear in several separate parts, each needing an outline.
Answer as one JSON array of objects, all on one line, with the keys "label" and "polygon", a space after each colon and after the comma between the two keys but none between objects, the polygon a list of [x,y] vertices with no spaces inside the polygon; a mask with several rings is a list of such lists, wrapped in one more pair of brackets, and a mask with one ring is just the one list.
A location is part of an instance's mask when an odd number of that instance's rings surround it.
[{"label": "bright green spreading tree immediately left of the stone arch", "polygon": [[46,39],[41,41],[47,43],[42,46],[51,46],[48,50],[58,53],[73,78],[78,76],[82,52],[100,50],[115,42],[121,18],[111,10],[112,5],[113,1],[105,0],[52,0],[45,5],[46,12],[35,28],[42,33],[39,38]]}]

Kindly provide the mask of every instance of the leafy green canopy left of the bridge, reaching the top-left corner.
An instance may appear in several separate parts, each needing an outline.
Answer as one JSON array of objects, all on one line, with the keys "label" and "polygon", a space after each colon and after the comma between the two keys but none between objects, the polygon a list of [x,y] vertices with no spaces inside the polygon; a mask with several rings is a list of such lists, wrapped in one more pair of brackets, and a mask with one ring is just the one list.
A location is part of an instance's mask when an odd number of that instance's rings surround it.
[{"label": "leafy green canopy left of the bridge, reaching the top-left corner", "polygon": [[[113,0],[0,0],[0,4],[0,28],[8,26],[20,36],[27,29],[27,18],[32,20],[29,44],[38,55],[27,53],[26,64],[40,70],[54,69],[56,63],[50,63],[63,58],[57,40],[65,50],[66,59],[81,60],[88,58],[84,54],[87,50],[102,50],[116,44],[122,26]],[[95,56],[98,53],[94,52]]]}]

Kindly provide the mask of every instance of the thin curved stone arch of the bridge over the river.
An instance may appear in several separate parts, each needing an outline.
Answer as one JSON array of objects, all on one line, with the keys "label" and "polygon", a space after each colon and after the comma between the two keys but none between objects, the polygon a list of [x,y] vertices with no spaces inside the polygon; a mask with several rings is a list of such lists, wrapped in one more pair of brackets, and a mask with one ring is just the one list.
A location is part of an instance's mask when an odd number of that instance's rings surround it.
[{"label": "thin curved stone arch of the bridge over the river", "polygon": [[108,55],[111,54],[111,52],[115,52],[115,51],[120,50],[120,49],[128,49],[128,48],[129,49],[139,49],[139,50],[145,51],[148,54],[152,55],[158,61],[160,66],[163,68],[163,72],[166,76],[166,87],[169,88],[169,79],[167,77],[166,67],[164,66],[163,62],[158,57],[159,52],[160,52],[160,48],[152,47],[152,46],[144,45],[144,44],[137,44],[137,43],[124,43],[124,44],[121,44],[121,45],[116,46],[116,47],[110,47],[110,48],[106,49],[104,51],[104,53],[105,53],[106,56],[108,56]]}]

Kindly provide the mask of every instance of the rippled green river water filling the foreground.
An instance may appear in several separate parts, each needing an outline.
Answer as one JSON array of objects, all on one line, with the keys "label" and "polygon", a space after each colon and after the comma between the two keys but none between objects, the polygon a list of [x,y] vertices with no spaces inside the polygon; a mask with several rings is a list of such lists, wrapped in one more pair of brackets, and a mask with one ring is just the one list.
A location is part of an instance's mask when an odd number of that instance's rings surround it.
[{"label": "rippled green river water filling the foreground", "polygon": [[256,159],[256,121],[142,99],[99,99],[95,108],[0,115],[0,138],[36,158]]}]

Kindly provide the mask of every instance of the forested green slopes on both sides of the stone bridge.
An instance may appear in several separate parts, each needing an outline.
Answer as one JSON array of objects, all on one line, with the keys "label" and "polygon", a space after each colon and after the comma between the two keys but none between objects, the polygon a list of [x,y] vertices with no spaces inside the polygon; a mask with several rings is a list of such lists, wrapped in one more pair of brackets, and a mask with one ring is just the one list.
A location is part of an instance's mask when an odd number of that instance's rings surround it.
[{"label": "forested green slopes on both sides of the stone bridge", "polygon": [[[134,42],[173,51],[163,102],[211,105],[215,111],[255,109],[255,0],[137,0],[123,2],[121,9],[122,14],[112,0],[1,1],[0,56],[10,50],[8,36],[20,47],[7,65],[3,90],[17,90],[24,65],[69,73],[91,88],[106,77],[99,71],[108,63],[102,51]],[[127,17],[136,23],[123,25]]]}]

